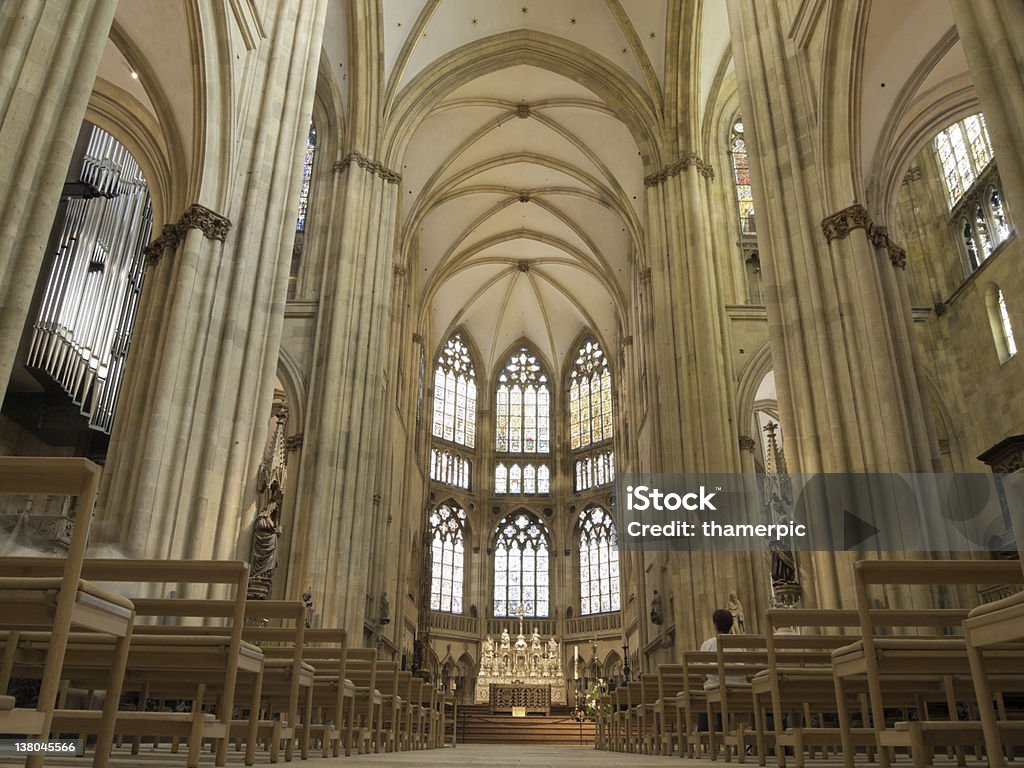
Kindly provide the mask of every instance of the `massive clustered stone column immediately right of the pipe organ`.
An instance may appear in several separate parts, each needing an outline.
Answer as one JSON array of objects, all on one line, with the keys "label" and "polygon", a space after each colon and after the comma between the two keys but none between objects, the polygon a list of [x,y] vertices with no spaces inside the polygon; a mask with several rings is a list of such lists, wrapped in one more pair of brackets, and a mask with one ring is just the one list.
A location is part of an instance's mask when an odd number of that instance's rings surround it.
[{"label": "massive clustered stone column immediately right of the pipe organ", "polygon": [[[242,82],[224,81],[227,41],[208,41],[204,204],[147,248],[100,492],[106,535],[132,555],[248,559],[325,13],[325,0],[274,6]],[[245,122],[220,112],[221,89],[253,104]]]}]

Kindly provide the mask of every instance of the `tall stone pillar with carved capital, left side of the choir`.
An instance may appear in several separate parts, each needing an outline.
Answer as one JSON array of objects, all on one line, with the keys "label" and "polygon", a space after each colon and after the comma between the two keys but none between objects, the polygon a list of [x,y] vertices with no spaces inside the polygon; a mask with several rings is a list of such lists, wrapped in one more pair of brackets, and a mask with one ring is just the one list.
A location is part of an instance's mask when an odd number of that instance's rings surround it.
[{"label": "tall stone pillar with carved capital, left side of the choir", "polygon": [[399,176],[357,152],[336,173],[341,216],[321,294],[302,471],[309,527],[298,572],[325,595],[325,626],[349,628],[357,644],[374,567]]}]

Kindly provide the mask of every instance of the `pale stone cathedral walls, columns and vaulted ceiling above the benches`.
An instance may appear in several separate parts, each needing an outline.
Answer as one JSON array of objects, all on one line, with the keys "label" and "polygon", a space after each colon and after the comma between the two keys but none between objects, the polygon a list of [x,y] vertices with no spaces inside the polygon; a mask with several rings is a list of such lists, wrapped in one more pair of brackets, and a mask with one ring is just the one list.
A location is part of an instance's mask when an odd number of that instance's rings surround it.
[{"label": "pale stone cathedral walls, columns and vaulted ceiling above the benches", "polygon": [[[856,565],[1024,550],[1018,0],[7,0],[0,121],[0,455],[102,468],[91,556],[245,561],[466,706],[1021,604]],[[622,477],[712,473],[1011,490],[970,551],[624,546]]]}]

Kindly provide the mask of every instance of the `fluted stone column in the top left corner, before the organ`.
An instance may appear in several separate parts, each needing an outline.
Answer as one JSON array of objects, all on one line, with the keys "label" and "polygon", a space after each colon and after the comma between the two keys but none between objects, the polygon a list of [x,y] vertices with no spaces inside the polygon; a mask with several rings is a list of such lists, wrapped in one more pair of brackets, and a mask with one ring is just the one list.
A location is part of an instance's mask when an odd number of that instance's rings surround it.
[{"label": "fluted stone column in the top left corner, before the organ", "polygon": [[0,3],[0,387],[7,388],[46,240],[117,0]]}]

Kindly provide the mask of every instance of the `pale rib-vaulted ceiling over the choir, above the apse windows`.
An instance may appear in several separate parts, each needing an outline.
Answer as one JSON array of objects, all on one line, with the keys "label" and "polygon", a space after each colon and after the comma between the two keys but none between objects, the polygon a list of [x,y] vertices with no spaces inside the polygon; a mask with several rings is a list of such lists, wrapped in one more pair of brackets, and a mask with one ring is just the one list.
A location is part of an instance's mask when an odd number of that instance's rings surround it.
[{"label": "pale rib-vaulted ceiling over the choir, above the apse windows", "polygon": [[401,166],[403,257],[436,349],[467,332],[493,371],[520,338],[562,366],[584,329],[613,344],[643,248],[644,167],[593,92],[520,65],[446,94]]}]

